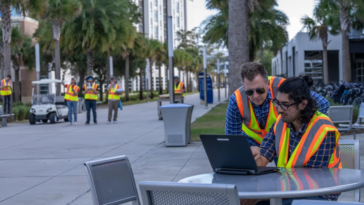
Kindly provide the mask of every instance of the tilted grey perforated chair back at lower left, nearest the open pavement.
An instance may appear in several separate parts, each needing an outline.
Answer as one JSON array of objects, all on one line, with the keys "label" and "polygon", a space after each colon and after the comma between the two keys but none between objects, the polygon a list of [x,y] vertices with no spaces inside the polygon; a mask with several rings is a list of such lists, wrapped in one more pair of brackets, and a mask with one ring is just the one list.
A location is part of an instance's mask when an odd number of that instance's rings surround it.
[{"label": "tilted grey perforated chair back at lower left, nearest the open pavement", "polygon": [[140,205],[130,162],[125,155],[84,163],[94,205],[132,201]]}]

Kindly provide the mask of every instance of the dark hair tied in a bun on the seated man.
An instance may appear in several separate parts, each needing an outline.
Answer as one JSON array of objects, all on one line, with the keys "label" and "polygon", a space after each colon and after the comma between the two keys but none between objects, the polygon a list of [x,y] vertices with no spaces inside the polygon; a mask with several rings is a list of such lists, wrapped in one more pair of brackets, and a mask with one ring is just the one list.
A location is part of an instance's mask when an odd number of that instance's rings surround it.
[{"label": "dark hair tied in a bun on the seated man", "polygon": [[307,105],[298,118],[299,123],[309,122],[316,112],[316,100],[311,97],[309,88],[312,84],[313,80],[309,75],[300,75],[286,79],[278,88],[278,92],[288,94],[289,99],[294,102],[307,100]]}]

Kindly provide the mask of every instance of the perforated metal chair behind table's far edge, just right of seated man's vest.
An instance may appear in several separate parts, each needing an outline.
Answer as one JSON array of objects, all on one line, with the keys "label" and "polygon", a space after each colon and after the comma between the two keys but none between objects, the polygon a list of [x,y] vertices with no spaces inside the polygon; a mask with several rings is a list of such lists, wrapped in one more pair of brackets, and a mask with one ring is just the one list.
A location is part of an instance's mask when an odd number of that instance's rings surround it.
[{"label": "perforated metal chair behind table's far edge, just right of seated man's vest", "polygon": [[[343,168],[360,169],[360,146],[358,139],[339,140],[340,160]],[[354,191],[354,201],[360,201],[360,189]]]}]

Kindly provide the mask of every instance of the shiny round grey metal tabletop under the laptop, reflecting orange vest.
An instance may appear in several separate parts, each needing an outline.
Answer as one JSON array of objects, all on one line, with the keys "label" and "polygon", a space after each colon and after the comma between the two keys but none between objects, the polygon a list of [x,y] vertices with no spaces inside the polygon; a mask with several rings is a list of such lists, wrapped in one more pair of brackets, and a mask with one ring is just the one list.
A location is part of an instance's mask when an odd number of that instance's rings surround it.
[{"label": "shiny round grey metal tabletop under the laptop, reflecting orange vest", "polygon": [[182,183],[235,184],[239,192],[277,192],[330,188],[361,182],[361,170],[337,168],[287,168],[262,175],[207,173],[180,180]]}]

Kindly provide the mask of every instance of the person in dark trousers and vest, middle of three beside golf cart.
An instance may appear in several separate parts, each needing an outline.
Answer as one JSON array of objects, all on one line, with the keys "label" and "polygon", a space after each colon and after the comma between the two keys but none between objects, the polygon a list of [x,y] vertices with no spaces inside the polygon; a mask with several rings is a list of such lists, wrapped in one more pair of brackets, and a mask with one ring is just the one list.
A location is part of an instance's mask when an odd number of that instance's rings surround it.
[{"label": "person in dark trousers and vest, middle of three beside golf cart", "polygon": [[97,124],[96,121],[96,100],[97,100],[97,94],[99,94],[99,91],[97,91],[97,84],[95,83],[94,78],[91,76],[88,76],[86,78],[86,84],[83,85],[83,91],[82,94],[84,95],[85,104],[86,104],[86,123],[85,125],[90,125],[90,111],[92,109],[92,115],[94,117],[94,123]]}]

